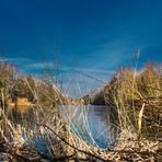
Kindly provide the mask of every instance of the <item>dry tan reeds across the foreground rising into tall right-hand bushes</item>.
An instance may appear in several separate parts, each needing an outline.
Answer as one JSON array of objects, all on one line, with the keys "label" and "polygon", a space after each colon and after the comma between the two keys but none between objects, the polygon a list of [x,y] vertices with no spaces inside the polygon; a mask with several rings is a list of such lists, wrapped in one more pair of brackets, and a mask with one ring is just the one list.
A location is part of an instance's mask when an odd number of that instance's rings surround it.
[{"label": "dry tan reeds across the foreground rising into tall right-hand bushes", "polygon": [[[18,125],[11,121],[7,117],[2,103],[0,160],[161,161],[161,114],[158,112],[161,111],[162,72],[159,69],[160,67],[153,69],[147,67],[141,73],[123,69],[106,86],[105,97],[116,109],[115,117],[120,131],[114,147],[105,150],[71,132],[69,125],[60,116],[59,105],[56,103],[45,108],[32,88],[30,89],[37,99],[36,108],[32,111],[34,117],[27,118],[32,127],[26,126],[25,123]],[[1,95],[3,99],[2,92]],[[56,92],[55,96],[59,97],[59,92],[58,94]],[[53,97],[47,97],[56,102]],[[35,148],[37,142],[45,144],[44,151]]]}]

